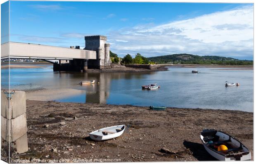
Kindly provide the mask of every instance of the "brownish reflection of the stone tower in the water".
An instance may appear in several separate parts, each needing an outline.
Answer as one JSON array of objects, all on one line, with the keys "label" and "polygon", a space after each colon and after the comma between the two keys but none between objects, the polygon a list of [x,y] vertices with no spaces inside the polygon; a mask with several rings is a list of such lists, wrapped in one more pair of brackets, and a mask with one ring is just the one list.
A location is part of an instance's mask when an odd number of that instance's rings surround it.
[{"label": "brownish reflection of the stone tower in the water", "polygon": [[106,104],[109,97],[111,76],[106,73],[93,74],[92,76],[96,80],[95,87],[86,92],[86,102]]}]

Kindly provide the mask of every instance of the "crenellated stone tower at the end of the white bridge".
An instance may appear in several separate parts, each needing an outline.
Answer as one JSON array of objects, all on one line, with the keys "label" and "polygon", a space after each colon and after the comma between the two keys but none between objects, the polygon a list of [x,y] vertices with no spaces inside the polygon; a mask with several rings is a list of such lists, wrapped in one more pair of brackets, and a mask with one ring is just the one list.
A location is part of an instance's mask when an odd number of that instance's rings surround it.
[{"label": "crenellated stone tower at the end of the white bridge", "polygon": [[107,37],[102,35],[85,36],[85,50],[96,51],[97,59],[88,62],[88,66],[94,65],[98,69],[110,68],[109,46]]}]

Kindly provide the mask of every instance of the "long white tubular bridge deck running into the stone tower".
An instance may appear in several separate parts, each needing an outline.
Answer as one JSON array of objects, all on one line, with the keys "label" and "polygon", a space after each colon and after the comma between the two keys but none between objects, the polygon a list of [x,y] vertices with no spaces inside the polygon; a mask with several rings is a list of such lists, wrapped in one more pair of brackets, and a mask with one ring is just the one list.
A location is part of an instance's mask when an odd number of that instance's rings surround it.
[{"label": "long white tubular bridge deck running into the stone tower", "polygon": [[1,44],[1,59],[30,58],[49,60],[96,59],[96,51],[40,44],[7,42]]}]

